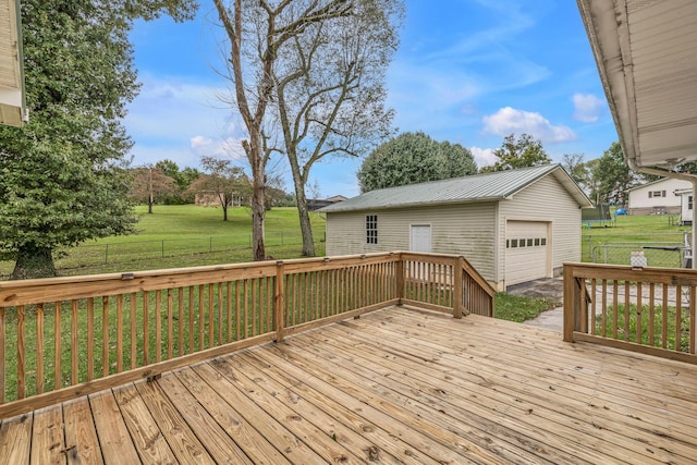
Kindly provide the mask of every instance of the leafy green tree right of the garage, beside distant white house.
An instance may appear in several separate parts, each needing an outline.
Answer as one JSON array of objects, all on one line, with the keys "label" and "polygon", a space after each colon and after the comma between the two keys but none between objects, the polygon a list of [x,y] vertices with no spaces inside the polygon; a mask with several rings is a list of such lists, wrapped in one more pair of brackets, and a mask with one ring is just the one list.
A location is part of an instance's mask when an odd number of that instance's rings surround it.
[{"label": "leafy green tree right of the garage, beside distant white house", "polygon": [[612,143],[602,154],[594,171],[594,178],[598,183],[597,198],[601,203],[625,204],[626,191],[636,184],[637,176],[624,160],[619,142]]}]

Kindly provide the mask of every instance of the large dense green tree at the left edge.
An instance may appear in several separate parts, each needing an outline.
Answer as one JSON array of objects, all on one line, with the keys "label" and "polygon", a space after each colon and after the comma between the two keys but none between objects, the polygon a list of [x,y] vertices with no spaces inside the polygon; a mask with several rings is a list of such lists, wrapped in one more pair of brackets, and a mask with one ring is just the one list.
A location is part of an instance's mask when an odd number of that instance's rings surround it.
[{"label": "large dense green tree at the left edge", "polygon": [[52,254],[132,231],[121,125],[137,94],[137,19],[191,17],[194,0],[25,0],[29,123],[0,129],[0,252],[13,279],[56,274]]}]

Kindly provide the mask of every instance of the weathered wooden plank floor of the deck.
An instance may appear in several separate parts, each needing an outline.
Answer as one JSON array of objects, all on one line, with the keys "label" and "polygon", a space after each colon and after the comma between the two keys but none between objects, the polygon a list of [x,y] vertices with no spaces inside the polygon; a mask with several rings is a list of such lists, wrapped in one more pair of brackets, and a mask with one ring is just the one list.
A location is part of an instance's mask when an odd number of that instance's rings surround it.
[{"label": "weathered wooden plank floor of the deck", "polygon": [[695,463],[697,366],[390,308],[2,421],[0,463]]}]

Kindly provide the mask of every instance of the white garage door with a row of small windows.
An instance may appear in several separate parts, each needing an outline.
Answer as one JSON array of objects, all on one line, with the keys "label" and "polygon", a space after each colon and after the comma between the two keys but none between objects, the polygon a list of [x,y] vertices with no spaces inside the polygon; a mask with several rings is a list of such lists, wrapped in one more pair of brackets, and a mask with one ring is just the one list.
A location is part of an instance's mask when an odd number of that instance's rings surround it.
[{"label": "white garage door with a row of small windows", "polygon": [[549,276],[547,225],[543,221],[506,221],[505,285]]}]

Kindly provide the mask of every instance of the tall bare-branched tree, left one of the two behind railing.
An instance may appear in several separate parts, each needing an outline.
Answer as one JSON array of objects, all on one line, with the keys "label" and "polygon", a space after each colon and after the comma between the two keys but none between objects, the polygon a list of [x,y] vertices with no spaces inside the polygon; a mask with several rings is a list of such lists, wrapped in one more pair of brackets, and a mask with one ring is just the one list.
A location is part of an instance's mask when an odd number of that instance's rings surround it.
[{"label": "tall bare-branched tree, left one of the two behind railing", "polygon": [[230,102],[240,112],[248,138],[242,147],[252,169],[252,248],[255,260],[266,259],[264,245],[266,167],[273,151],[269,106],[273,68],[279,51],[298,40],[317,22],[347,15],[352,0],[213,0],[227,34],[230,53]]}]

